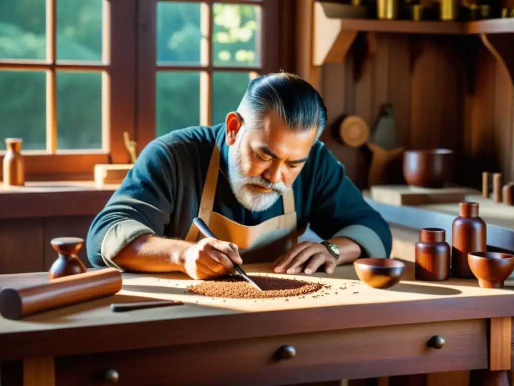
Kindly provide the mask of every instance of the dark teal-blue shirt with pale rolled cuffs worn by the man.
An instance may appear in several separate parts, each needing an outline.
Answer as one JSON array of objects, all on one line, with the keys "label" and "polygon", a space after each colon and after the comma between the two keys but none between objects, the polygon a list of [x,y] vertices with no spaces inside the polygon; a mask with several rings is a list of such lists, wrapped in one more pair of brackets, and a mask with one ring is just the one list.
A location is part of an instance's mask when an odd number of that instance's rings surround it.
[{"label": "dark teal-blue shirt with pale rolled cuffs worn by the man", "polygon": [[[243,225],[283,215],[282,199],[263,212],[251,212],[236,200],[227,177],[225,124],[172,131],[143,149],[94,219],[86,241],[91,264],[117,267],[112,258],[145,233],[185,238],[198,215],[215,144],[221,159],[213,210]],[[298,229],[308,224],[323,239],[347,237],[370,257],[389,257],[392,237],[388,223],[365,202],[344,166],[322,142],[316,141],[311,148],[292,189]]]}]

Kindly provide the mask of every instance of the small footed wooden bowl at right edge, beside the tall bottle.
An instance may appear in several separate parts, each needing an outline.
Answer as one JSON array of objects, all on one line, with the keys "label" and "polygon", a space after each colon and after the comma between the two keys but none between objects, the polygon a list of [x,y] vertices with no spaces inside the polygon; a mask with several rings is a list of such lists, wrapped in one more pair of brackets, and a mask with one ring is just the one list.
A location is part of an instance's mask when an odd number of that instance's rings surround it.
[{"label": "small footed wooden bowl at right edge, beside the tall bottle", "polygon": [[500,252],[471,252],[468,254],[471,272],[482,288],[503,288],[505,279],[514,270],[514,255]]}]

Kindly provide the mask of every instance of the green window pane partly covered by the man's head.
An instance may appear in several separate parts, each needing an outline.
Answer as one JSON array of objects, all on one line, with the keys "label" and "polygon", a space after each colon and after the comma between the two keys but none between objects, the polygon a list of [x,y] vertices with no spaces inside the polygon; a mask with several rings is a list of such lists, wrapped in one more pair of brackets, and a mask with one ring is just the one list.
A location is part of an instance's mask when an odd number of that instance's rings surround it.
[{"label": "green window pane partly covered by the man's head", "polygon": [[249,82],[249,73],[215,72],[212,74],[213,125],[224,122],[227,113],[237,109]]}]

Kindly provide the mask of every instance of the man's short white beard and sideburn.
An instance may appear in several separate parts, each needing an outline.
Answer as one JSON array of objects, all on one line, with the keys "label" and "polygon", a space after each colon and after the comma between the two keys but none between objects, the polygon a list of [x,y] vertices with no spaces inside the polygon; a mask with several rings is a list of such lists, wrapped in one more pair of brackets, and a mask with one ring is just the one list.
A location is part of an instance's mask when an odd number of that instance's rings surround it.
[{"label": "man's short white beard and sideburn", "polygon": [[[230,187],[237,201],[252,212],[263,212],[270,208],[290,186],[283,182],[270,183],[261,176],[247,177],[243,172],[241,160],[241,138],[243,133],[236,137],[235,144],[228,151],[228,174]],[[249,187],[250,184],[272,189],[270,192],[259,192]]]}]

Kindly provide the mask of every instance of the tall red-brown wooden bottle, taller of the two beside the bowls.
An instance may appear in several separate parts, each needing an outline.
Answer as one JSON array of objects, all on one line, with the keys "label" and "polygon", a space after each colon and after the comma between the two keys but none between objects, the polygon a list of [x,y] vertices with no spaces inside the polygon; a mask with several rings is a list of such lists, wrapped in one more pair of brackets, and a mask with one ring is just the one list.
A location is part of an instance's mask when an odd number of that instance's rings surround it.
[{"label": "tall red-brown wooden bottle, taller of the two beside the bowls", "polygon": [[474,279],[469,269],[468,253],[486,252],[487,225],[479,217],[479,204],[460,202],[460,214],[452,224],[451,276]]}]

